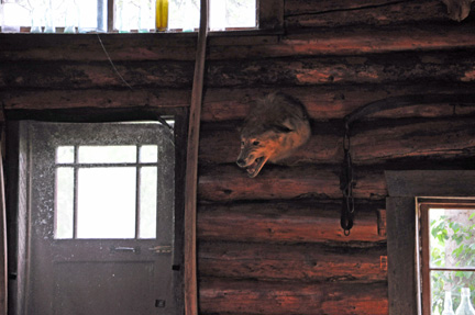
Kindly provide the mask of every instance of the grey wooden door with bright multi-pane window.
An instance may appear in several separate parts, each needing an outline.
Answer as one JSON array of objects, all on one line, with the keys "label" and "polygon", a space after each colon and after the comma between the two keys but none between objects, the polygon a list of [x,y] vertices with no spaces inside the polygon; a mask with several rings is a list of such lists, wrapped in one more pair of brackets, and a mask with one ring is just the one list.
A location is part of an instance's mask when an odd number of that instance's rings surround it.
[{"label": "grey wooden door with bright multi-pane window", "polygon": [[26,313],[175,314],[173,132],[29,123]]}]

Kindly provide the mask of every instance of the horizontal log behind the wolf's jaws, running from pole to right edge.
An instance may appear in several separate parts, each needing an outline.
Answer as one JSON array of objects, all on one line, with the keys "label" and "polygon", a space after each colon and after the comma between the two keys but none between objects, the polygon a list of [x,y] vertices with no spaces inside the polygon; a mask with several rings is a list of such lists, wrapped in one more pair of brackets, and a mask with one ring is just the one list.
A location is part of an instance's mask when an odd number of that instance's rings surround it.
[{"label": "horizontal log behind the wolf's jaws, running from pole to right edge", "polygon": [[[451,108],[451,106],[448,106]],[[473,106],[475,110],[475,106]],[[457,159],[475,153],[474,119],[411,120],[371,122],[352,126],[351,154],[356,165],[382,164],[401,158]],[[200,161],[232,164],[240,151],[240,124],[203,126]],[[342,122],[313,122],[312,136],[292,157],[279,165],[341,164],[343,159]],[[217,148],[220,148],[217,150]]]}]

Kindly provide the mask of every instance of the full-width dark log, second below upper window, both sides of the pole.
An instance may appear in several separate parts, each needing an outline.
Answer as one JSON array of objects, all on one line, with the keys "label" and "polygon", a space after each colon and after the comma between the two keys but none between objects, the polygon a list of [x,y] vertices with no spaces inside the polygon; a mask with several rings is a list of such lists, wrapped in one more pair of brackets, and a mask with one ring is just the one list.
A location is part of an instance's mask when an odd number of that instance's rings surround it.
[{"label": "full-width dark log, second below upper window, both sides of the pole", "polygon": [[[266,58],[209,61],[206,86],[321,86],[328,83],[475,82],[473,52],[366,57]],[[0,88],[189,88],[188,61],[0,64]],[[117,71],[115,71],[117,69]],[[120,74],[120,75],[119,75]],[[122,80],[123,78],[123,80]],[[125,81],[125,82],[124,82]]]}]

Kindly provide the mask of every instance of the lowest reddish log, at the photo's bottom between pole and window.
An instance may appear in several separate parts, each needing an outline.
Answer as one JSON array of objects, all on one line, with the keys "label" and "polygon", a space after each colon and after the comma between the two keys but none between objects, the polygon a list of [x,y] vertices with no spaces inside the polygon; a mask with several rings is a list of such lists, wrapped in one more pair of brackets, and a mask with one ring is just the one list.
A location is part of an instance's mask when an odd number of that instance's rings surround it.
[{"label": "lowest reddish log, at the photo's bottom between pole and window", "polygon": [[385,282],[281,283],[201,280],[200,314],[382,315],[388,313]]}]

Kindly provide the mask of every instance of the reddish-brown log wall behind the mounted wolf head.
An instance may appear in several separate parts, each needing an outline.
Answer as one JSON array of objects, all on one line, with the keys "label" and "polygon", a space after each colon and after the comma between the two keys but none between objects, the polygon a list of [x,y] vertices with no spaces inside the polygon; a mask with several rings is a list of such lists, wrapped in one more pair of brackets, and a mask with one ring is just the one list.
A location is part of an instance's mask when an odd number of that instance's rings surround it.
[{"label": "reddish-brown log wall behind the mounted wolf head", "polygon": [[[350,236],[340,227],[343,117],[387,98],[473,93],[475,19],[453,22],[438,0],[284,3],[283,34],[209,38],[200,314],[387,314],[384,170],[473,169],[475,106],[441,99],[354,124]],[[0,101],[7,116],[187,106],[195,47],[194,34],[1,34]],[[303,102],[312,137],[287,162],[250,179],[234,162],[238,128],[255,99],[272,91]]]}]

